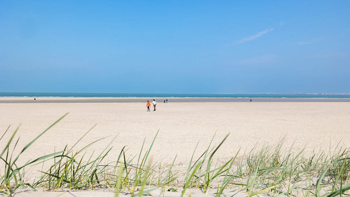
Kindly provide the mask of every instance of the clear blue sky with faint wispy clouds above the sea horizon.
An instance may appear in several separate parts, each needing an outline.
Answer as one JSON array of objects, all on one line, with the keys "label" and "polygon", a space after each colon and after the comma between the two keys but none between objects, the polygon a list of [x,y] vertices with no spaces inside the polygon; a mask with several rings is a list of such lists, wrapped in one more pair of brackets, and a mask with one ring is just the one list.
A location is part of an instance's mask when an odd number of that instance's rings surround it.
[{"label": "clear blue sky with faint wispy clouds above the sea horizon", "polygon": [[349,7],[0,0],[0,92],[350,93]]}]

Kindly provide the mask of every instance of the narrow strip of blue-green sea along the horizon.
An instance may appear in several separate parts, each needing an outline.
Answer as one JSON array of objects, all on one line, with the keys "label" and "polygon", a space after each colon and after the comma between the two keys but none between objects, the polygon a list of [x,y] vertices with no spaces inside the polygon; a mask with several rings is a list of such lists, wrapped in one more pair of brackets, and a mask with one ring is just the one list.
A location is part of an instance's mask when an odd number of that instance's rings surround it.
[{"label": "narrow strip of blue-green sea along the horizon", "polygon": [[259,94],[188,94],[188,93],[30,93],[0,92],[0,97],[153,97],[153,98],[350,98],[350,93],[259,93]]}]

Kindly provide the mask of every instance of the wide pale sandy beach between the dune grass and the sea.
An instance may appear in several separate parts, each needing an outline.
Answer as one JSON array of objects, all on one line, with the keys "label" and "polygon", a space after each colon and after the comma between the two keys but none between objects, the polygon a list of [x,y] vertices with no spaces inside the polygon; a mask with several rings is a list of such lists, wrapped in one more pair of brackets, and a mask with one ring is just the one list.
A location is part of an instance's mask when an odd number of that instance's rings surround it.
[{"label": "wide pale sandy beach between the dune grass and the sea", "polygon": [[145,102],[67,100],[72,102],[0,103],[0,130],[4,132],[11,125],[0,148],[18,125],[18,147],[23,147],[65,113],[69,114],[26,150],[28,154],[21,156],[19,163],[62,150],[66,144],[71,147],[95,124],[76,145],[77,150],[110,136],[94,144],[87,154],[93,150],[99,154],[111,142],[113,148],[106,157],[109,161],[115,161],[124,146],[128,148],[127,157],[132,158],[144,139],[145,150],[149,147],[159,130],[151,151],[153,161],[169,163],[177,155],[174,169],[179,172],[186,171],[197,142],[195,157],[205,151],[215,133],[212,145],[230,134],[216,154],[219,159],[234,156],[239,148],[243,154],[255,144],[276,144],[283,136],[284,146],[294,143],[295,151],[305,145],[306,151],[327,151],[338,143],[350,144],[349,102],[158,102],[157,111],[147,112]]}]

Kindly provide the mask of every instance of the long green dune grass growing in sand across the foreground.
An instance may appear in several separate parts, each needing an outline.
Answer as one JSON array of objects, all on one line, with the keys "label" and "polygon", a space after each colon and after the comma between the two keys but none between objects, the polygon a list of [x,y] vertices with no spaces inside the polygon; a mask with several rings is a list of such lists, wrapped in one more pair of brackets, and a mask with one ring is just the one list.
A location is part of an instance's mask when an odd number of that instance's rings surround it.
[{"label": "long green dune grass growing in sand across the foreground", "polygon": [[[64,116],[63,116],[64,117]],[[63,117],[53,123],[54,126]],[[131,196],[147,195],[160,189],[159,196],[165,191],[178,192],[179,196],[188,196],[188,189],[198,189],[204,194],[215,191],[215,195],[234,196],[245,193],[246,196],[269,194],[271,196],[348,196],[350,190],[350,152],[348,148],[336,147],[329,152],[302,149],[293,152],[293,145],[284,149],[285,138],[275,145],[258,144],[250,151],[239,150],[227,161],[215,158],[217,150],[225,142],[228,135],[217,146],[208,148],[199,158],[189,156],[190,162],[185,175],[174,170],[176,156],[172,163],[153,162],[151,150],[156,143],[155,134],[152,144],[146,151],[144,143],[140,153],[126,158],[125,147],[119,152],[117,161],[108,162],[105,157],[111,151],[111,142],[102,152],[86,156],[87,150],[98,139],[84,148],[75,151],[75,145],[87,134],[85,133],[71,148],[66,147],[49,155],[43,155],[30,160],[24,165],[17,165],[18,158],[30,154],[26,149],[41,135],[28,143],[17,156],[13,156],[19,138],[15,139],[18,128],[10,135],[0,154],[0,192],[7,195],[21,188],[41,190],[78,189],[94,190],[111,188],[116,196],[131,194]],[[9,128],[0,138],[0,142]],[[215,135],[212,137],[214,139]],[[13,148],[10,148],[12,147]],[[36,179],[28,179],[26,167],[42,165],[49,162],[50,167],[42,169]],[[27,180],[30,180],[27,181]]]}]

